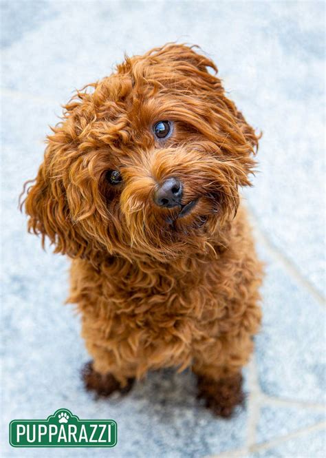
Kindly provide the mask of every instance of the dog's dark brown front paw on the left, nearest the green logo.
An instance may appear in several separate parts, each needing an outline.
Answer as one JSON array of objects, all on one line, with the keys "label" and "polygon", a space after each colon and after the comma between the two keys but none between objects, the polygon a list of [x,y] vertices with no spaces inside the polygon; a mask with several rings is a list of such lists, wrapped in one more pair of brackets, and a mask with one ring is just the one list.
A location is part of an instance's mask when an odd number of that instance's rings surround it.
[{"label": "dog's dark brown front paw on the left, nearest the green logo", "polygon": [[82,377],[85,388],[88,391],[95,391],[100,397],[107,397],[115,391],[126,394],[133,386],[133,379],[128,379],[127,386],[122,387],[120,382],[112,374],[102,375],[96,372],[91,361],[83,367]]}]

